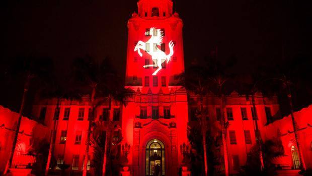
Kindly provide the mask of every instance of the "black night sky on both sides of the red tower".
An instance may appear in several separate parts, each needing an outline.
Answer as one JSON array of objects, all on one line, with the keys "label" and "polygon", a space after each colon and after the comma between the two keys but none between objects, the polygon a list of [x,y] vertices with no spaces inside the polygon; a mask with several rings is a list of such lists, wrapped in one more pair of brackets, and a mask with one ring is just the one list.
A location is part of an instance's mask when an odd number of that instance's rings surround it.
[{"label": "black night sky on both sides of the red tower", "polygon": [[[2,59],[50,56],[66,74],[74,57],[108,56],[124,77],[127,20],[137,0],[8,2],[1,2]],[[216,46],[220,59],[236,56],[242,70],[312,55],[312,11],[304,1],[176,0],[174,11],[184,22],[186,67]]]}]

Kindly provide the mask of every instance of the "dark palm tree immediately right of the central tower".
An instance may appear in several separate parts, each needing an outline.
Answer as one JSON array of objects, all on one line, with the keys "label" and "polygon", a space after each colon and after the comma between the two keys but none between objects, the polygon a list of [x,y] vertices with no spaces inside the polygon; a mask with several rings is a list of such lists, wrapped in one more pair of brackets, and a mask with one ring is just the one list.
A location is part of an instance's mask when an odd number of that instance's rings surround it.
[{"label": "dark palm tree immediately right of the central tower", "polygon": [[203,108],[203,98],[209,92],[208,82],[205,76],[205,68],[199,65],[193,64],[185,73],[181,75],[182,85],[186,90],[194,93],[199,96],[200,106],[199,111],[196,113],[196,117],[199,121],[201,133],[202,133],[202,143],[203,143],[203,152],[204,152],[204,168],[205,175],[208,174],[207,166],[207,144],[206,144],[206,132],[207,132],[207,122],[206,116],[207,112]]}]

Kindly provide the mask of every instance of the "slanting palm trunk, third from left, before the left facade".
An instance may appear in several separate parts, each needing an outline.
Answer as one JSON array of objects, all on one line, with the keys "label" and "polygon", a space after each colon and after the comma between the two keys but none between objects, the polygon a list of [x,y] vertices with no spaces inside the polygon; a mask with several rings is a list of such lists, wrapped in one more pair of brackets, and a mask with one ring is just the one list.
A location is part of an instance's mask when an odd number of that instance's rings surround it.
[{"label": "slanting palm trunk, third from left, before the left facade", "polygon": [[96,118],[95,117],[95,109],[94,109],[94,97],[96,93],[96,86],[92,86],[92,94],[91,94],[91,110],[92,110],[92,119],[89,119],[88,131],[87,131],[87,141],[86,141],[86,152],[84,158],[84,170],[83,176],[87,176],[87,169],[88,169],[88,156],[89,156],[89,147],[90,147],[90,136],[91,136],[91,127],[92,122]]}]

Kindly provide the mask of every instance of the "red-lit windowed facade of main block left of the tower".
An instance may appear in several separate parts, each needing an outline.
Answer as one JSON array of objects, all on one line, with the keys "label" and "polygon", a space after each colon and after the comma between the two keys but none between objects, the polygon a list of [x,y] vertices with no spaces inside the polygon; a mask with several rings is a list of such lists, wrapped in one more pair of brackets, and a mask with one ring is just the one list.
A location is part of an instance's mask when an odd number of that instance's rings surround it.
[{"label": "red-lit windowed facade of main block left of the tower", "polygon": [[[69,171],[71,172],[82,172],[83,170],[83,162],[86,151],[86,141],[87,141],[87,131],[89,126],[88,114],[89,108],[91,108],[89,104],[88,97],[84,97],[82,101],[70,101],[70,100],[61,100],[59,102],[58,107],[60,108],[59,119],[58,121],[53,120],[55,108],[57,107],[57,100],[40,100],[35,105],[33,105],[33,113],[35,116],[40,116],[40,109],[46,107],[46,115],[44,123],[48,126],[50,132],[54,129],[56,130],[56,138],[55,138],[55,146],[53,156],[57,160],[57,158],[62,157],[64,159],[64,163],[69,164]],[[69,118],[68,120],[63,120],[64,117],[64,109],[70,108]],[[79,108],[84,108],[84,118],[83,120],[78,120]],[[108,108],[108,102],[103,103],[100,106],[97,106],[95,110],[96,118],[95,122],[99,121],[100,115],[102,115],[103,108]],[[110,113],[109,113],[109,121],[113,121],[113,109],[119,108],[119,104],[112,103]],[[120,111],[121,113],[121,111]],[[120,115],[121,117],[121,115]],[[104,130],[108,129],[108,121],[104,121],[103,127]],[[111,125],[111,124],[110,124]],[[114,121],[113,125],[121,125],[121,118],[119,121]],[[67,130],[66,142],[64,144],[60,143],[61,131]],[[82,131],[82,140],[80,144],[75,144],[76,132]],[[51,133],[49,139],[51,138]],[[72,169],[73,155],[79,155],[79,167],[78,169]],[[89,147],[89,155],[90,160],[93,159],[93,147],[92,145]],[[57,168],[52,168],[57,169]],[[93,172],[93,169],[90,168],[90,173]]]}]

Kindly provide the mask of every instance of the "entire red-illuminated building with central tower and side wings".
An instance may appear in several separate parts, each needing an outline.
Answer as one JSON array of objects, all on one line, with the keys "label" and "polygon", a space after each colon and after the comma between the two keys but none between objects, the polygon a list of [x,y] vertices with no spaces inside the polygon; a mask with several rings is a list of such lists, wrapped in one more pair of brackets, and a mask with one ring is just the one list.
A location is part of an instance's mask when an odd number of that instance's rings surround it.
[{"label": "entire red-illuminated building with central tower and side wings", "polygon": [[[199,106],[199,97],[178,84],[177,76],[184,72],[182,28],[183,22],[177,13],[173,13],[171,0],[140,0],[138,13],[133,13],[128,21],[125,86],[135,93],[127,100],[126,106],[115,101],[110,106],[108,101],[104,101],[95,109],[94,121],[100,123],[106,134],[106,142],[109,141],[109,145],[105,145],[105,151],[108,150],[106,146],[110,146],[111,153],[118,158],[126,158],[127,162],[123,162],[121,166],[128,166],[131,175],[155,175],[156,172],[160,172],[159,175],[178,175],[179,169],[186,165],[184,154],[191,148],[187,128],[198,123],[195,112]],[[103,97],[96,97],[96,101],[100,100]],[[276,97],[268,98],[260,93],[256,94],[256,111],[250,99],[236,92],[226,96],[225,103],[225,121],[229,124],[226,130],[228,160],[225,163],[228,164],[230,174],[238,173],[241,166],[246,165],[249,152],[257,145],[256,122],[263,141],[278,138],[282,142],[284,154],[272,161],[276,167],[299,168],[301,163],[298,160],[290,118],[281,118]],[[203,107],[208,112],[206,121],[209,128],[213,129],[214,135],[218,134],[220,98],[213,94],[205,96]],[[0,108],[0,122],[4,119],[2,123],[6,127],[0,128],[1,158],[8,157],[7,152],[12,145],[6,138],[13,126],[8,124],[12,120],[8,118],[10,115],[7,111]],[[58,101],[56,98],[36,100],[33,114],[44,122],[49,131],[56,132],[51,158],[55,158],[56,164],[69,164],[68,171],[72,173],[82,173],[86,168],[84,158],[91,118],[90,96],[85,96],[80,101]],[[311,106],[295,113],[307,169],[312,169],[310,114]],[[23,141],[29,141],[27,134],[38,124],[28,121],[22,121],[20,131],[23,129],[25,135],[19,136],[15,162],[21,161],[17,159],[21,155],[20,151],[25,154],[32,146],[31,143]],[[29,123],[31,124],[27,125]],[[38,129],[34,132],[41,133],[39,136],[48,141],[52,139],[53,133]],[[222,149],[220,152],[224,153]],[[90,147],[87,170],[95,175],[91,166],[93,153],[93,147]],[[26,163],[33,163],[28,161],[30,159],[24,157],[23,162],[26,160]],[[107,160],[107,155],[104,155],[105,166]],[[1,160],[0,169],[4,169],[4,163],[5,160]],[[222,164],[221,168],[224,168],[224,162]],[[17,167],[23,165],[25,164]],[[107,166],[103,173],[108,171],[106,168]],[[56,172],[60,170],[57,165],[50,166],[49,169]],[[224,169],[221,172],[224,173]]]}]

